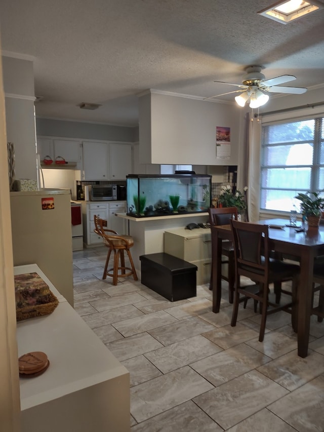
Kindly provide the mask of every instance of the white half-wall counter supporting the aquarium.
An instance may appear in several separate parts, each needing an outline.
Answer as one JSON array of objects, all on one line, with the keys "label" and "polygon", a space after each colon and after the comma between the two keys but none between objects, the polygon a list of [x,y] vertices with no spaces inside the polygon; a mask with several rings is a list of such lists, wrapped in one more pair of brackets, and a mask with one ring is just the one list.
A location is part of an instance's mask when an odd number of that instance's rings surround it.
[{"label": "white half-wall counter supporting the aquarium", "polygon": [[168,216],[133,217],[126,213],[116,213],[115,216],[125,218],[129,224],[129,234],[134,238],[131,249],[136,271],[140,273],[141,255],[164,252],[164,232],[171,228],[185,227],[188,223],[206,223],[209,214],[186,213]]}]

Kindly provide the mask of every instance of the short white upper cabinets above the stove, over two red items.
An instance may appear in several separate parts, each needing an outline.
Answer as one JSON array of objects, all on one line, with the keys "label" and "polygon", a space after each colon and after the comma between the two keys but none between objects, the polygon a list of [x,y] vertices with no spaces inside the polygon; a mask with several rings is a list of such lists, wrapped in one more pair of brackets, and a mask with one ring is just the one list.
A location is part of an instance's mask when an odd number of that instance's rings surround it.
[{"label": "short white upper cabinets above the stove, over two red items", "polygon": [[65,165],[69,168],[82,168],[82,149],[79,140],[37,137],[37,153],[41,163],[47,155],[53,160],[52,165],[43,165],[46,168],[66,168],[64,165],[55,164],[58,156],[67,162]]}]

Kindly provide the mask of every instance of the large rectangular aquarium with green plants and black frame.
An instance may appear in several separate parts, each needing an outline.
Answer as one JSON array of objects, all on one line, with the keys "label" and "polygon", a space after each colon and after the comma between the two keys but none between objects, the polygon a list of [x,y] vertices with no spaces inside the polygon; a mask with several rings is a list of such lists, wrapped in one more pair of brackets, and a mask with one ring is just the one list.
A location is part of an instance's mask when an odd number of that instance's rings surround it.
[{"label": "large rectangular aquarium with green plants and black frame", "polygon": [[205,174],[130,174],[127,214],[134,217],[207,212],[212,176]]}]

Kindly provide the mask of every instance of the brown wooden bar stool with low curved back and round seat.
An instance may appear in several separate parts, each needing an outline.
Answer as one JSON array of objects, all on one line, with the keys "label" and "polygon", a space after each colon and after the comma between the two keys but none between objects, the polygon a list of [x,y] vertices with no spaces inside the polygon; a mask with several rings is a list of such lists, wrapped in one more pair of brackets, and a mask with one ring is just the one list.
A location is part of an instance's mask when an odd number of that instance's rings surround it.
[{"label": "brown wooden bar stool with low curved back and round seat", "polygon": [[[105,246],[108,248],[102,279],[110,276],[112,277],[112,284],[117,285],[118,278],[126,278],[133,275],[134,280],[137,281],[138,278],[130,251],[130,248],[134,245],[133,237],[131,235],[119,235],[116,231],[105,228],[107,221],[98,218],[96,215],[94,216],[94,222],[94,231],[102,237]],[[126,251],[129,257],[131,267],[125,266],[124,251]],[[113,267],[108,268],[111,252],[113,252]],[[126,270],[129,271],[126,272]]]}]

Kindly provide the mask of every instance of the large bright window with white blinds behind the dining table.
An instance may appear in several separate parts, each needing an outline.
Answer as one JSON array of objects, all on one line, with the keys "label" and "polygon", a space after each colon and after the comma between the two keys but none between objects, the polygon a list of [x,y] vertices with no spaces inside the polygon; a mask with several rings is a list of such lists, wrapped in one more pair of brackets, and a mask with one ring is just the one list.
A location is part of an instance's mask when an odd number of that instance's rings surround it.
[{"label": "large bright window with white blinds behind the dining table", "polygon": [[262,127],[261,210],[290,211],[298,192],[324,189],[324,118]]}]

